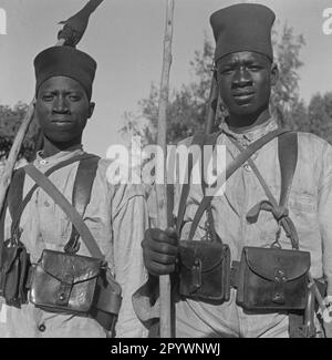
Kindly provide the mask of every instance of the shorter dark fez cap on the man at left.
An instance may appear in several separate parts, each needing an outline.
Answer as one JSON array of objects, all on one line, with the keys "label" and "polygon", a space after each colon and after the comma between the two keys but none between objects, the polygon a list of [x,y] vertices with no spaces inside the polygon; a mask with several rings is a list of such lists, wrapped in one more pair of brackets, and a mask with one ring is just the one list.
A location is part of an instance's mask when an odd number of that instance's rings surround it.
[{"label": "shorter dark fez cap on the man at left", "polygon": [[45,80],[66,76],[79,81],[90,100],[95,71],[96,62],[85,52],[72,47],[49,48],[34,59],[35,94]]}]

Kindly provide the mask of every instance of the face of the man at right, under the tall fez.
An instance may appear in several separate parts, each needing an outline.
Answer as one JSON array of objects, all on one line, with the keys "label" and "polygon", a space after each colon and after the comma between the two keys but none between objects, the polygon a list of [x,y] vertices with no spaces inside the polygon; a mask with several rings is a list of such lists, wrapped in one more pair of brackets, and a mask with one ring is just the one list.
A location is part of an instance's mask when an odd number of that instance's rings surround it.
[{"label": "face of the man at right, under the tall fez", "polygon": [[259,114],[268,109],[277,79],[277,65],[256,52],[231,53],[217,63],[218,86],[230,116]]}]

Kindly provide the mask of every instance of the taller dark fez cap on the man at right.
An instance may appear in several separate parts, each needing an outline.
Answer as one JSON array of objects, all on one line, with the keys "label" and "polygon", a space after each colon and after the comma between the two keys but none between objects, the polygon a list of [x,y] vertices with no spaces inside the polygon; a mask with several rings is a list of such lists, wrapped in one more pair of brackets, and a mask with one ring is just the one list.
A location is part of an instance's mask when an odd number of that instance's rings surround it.
[{"label": "taller dark fez cap on the man at right", "polygon": [[214,12],[210,23],[216,40],[215,62],[230,53],[253,51],[273,61],[271,29],[274,12],[258,3],[238,3]]}]

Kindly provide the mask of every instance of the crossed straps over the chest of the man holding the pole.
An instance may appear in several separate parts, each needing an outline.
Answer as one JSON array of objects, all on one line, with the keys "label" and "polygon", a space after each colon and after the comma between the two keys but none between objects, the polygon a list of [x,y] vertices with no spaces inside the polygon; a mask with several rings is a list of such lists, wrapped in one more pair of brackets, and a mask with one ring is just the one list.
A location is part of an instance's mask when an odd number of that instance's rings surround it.
[{"label": "crossed straps over the chest of the man holding the pole", "polygon": [[[212,135],[205,135],[205,134],[196,134],[194,136],[191,145],[199,145],[203,147],[203,145],[216,145],[217,138],[219,136],[218,134]],[[266,184],[263,177],[261,176],[260,172],[258,171],[257,166],[255,165],[253,161],[250,158],[259,148],[264,146],[267,143],[271,142],[273,138],[278,137],[278,155],[279,155],[279,164],[280,164],[280,173],[281,173],[281,191],[280,191],[280,199],[279,204],[274,199],[273,195],[269,191],[268,185]],[[250,167],[252,168],[253,173],[258,177],[261,186],[264,189],[264,193],[268,197],[268,200],[260,202],[257,204],[252,209],[249,210],[247,215],[247,219],[249,223],[253,223],[258,219],[258,215],[260,210],[267,210],[271,212],[273,214],[273,217],[282,226],[284,229],[287,236],[290,238],[292,248],[298,249],[299,248],[299,238],[297,234],[297,229],[291,222],[291,219],[288,216],[288,209],[287,209],[287,203],[288,197],[294,175],[294,171],[297,167],[297,161],[298,161],[298,134],[294,132],[289,132],[286,130],[276,130],[273,132],[268,133],[267,135],[262,136],[255,143],[250,144],[246,150],[243,150],[236,141],[231,140],[232,143],[238,147],[239,155],[226,167],[226,181],[243,164],[248,161]],[[203,163],[203,162],[201,162]],[[190,179],[190,174],[193,169],[193,162],[189,160],[188,164],[188,178]],[[203,172],[204,174],[204,172]],[[176,229],[178,234],[180,234],[181,225],[184,220],[184,215],[186,212],[186,203],[189,195],[189,183],[183,185],[181,188],[181,195],[180,195],[180,202],[179,202],[179,209],[178,209],[178,216],[176,222]],[[215,233],[215,226],[214,226],[214,218],[211,215],[211,202],[212,196],[206,196],[205,195],[205,188],[206,184],[201,182],[203,185],[203,192],[204,192],[204,198],[200,202],[198,209],[196,212],[196,215],[194,217],[189,237],[188,239],[191,240],[194,238],[195,232],[198,227],[198,224],[201,219],[201,216],[205,212],[207,212],[207,225],[209,228],[208,232]],[[219,238],[212,236],[212,238]]]}]

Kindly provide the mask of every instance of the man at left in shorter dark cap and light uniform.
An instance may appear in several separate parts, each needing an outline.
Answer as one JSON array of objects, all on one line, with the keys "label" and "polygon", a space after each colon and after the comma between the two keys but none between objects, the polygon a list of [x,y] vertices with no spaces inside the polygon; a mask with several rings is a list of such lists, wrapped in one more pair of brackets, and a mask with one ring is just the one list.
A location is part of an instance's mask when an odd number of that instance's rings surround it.
[{"label": "man at left in shorter dark cap and light uniform", "polygon": [[[95,106],[91,96],[96,62],[74,48],[53,47],[35,58],[34,68],[35,116],[43,132],[44,145],[33,165],[45,173],[63,162],[68,163],[54,171],[49,178],[72,202],[80,162],[71,163],[71,160],[85,154],[82,134]],[[141,338],[145,337],[146,330],[134,313],[131,296],[145,278],[141,240],[146,223],[146,203],[139,187],[110,185],[106,178],[108,165],[108,161],[97,158],[84,222],[122,287],[123,299],[115,328],[116,337]],[[33,185],[32,178],[25,175],[22,198]],[[9,193],[14,197],[19,192],[20,188],[14,188]],[[10,203],[10,198],[8,202]],[[3,240],[7,240],[11,237],[13,216],[10,214],[10,206],[3,215]],[[38,263],[44,249],[63,251],[72,234],[69,216],[40,188],[32,194],[19,226],[20,241],[30,254],[32,264]],[[77,255],[92,256],[82,239]],[[90,317],[52,313],[34,307],[31,302],[17,308],[6,305],[2,297],[0,301],[1,338],[110,336]]]}]

